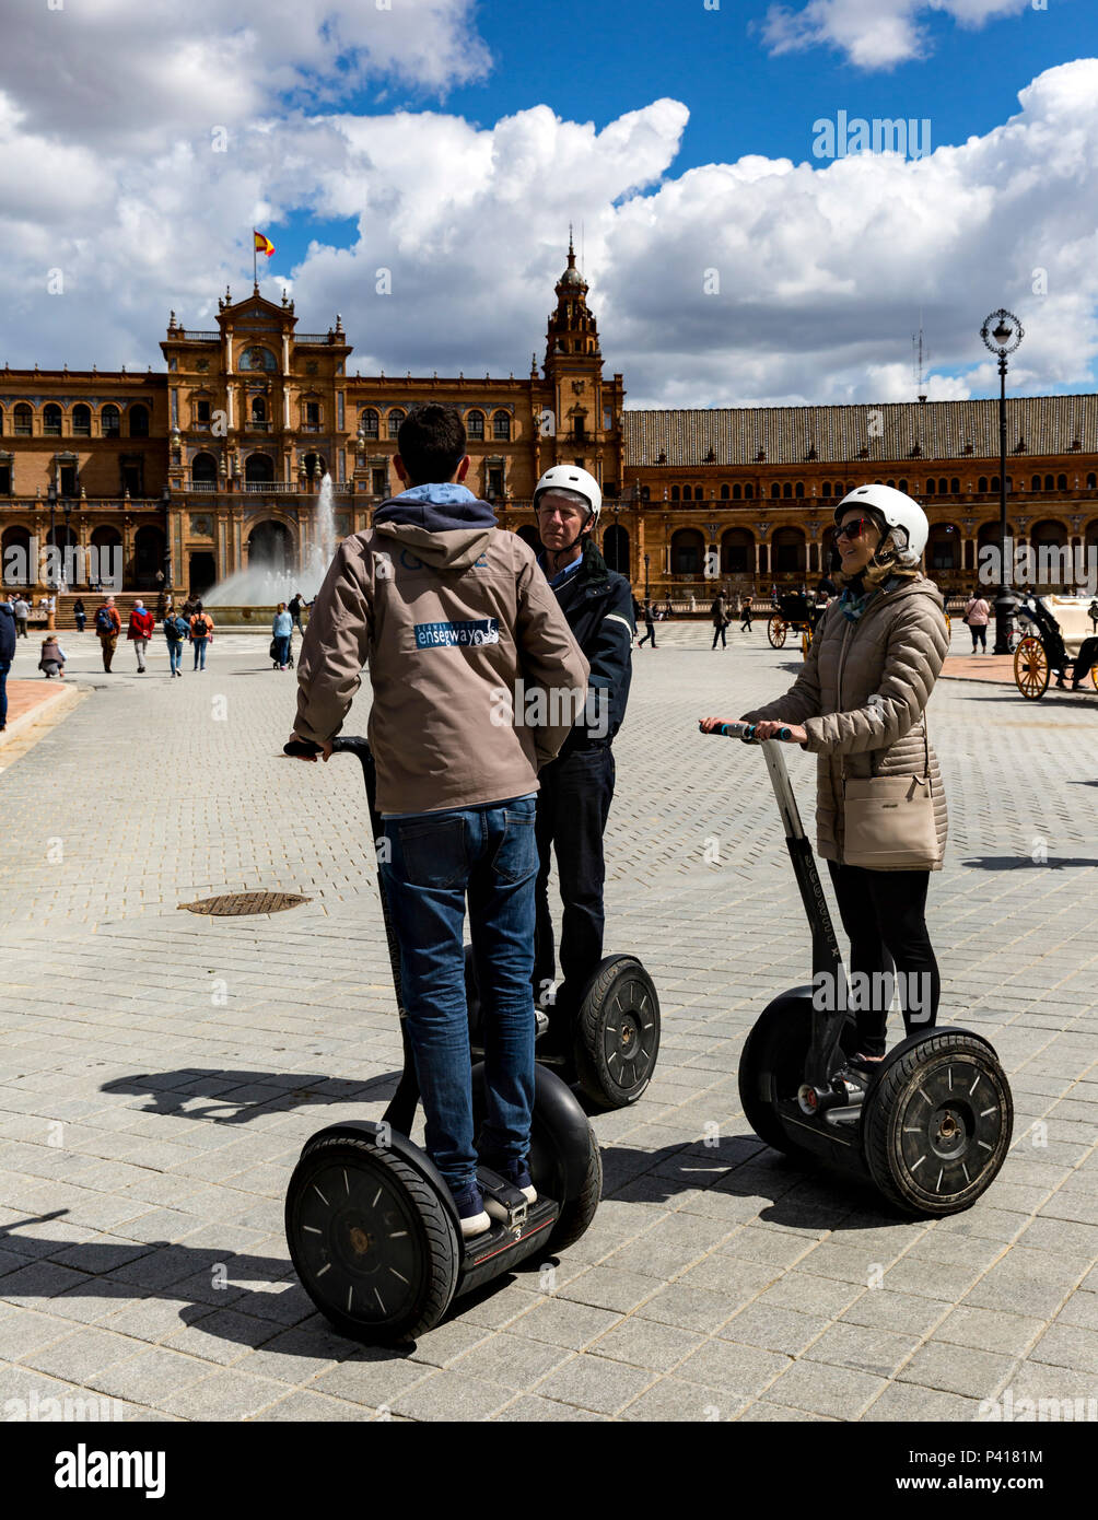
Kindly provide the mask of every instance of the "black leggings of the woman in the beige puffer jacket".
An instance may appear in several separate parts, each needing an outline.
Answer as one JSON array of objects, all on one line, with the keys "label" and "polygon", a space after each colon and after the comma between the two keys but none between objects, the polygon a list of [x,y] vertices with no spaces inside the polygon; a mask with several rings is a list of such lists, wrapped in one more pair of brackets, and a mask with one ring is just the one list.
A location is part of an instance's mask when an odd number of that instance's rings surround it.
[{"label": "black leggings of the woman in the beige puffer jacket", "polygon": [[850,1006],[858,1009],[858,1047],[862,1055],[884,1055],[893,980],[899,982],[906,1034],[932,1029],[938,1017],[941,977],[926,933],[931,872],[867,871],[833,860],[827,869],[850,936],[849,970],[852,977],[861,973],[850,988]]}]

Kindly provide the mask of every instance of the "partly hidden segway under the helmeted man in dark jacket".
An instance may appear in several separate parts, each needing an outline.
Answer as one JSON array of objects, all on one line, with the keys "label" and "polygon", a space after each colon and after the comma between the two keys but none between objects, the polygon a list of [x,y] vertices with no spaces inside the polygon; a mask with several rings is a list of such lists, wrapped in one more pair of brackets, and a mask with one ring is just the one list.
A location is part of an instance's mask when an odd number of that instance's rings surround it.
[{"label": "partly hidden segway under the helmeted man in dark jacket", "polygon": [[[537,1009],[537,1059],[578,1087],[596,1108],[628,1108],[652,1079],[660,1050],[660,999],[634,955],[608,955],[587,982],[573,1015]],[[465,996],[473,1050],[484,1055],[473,947],[465,947]]]}]

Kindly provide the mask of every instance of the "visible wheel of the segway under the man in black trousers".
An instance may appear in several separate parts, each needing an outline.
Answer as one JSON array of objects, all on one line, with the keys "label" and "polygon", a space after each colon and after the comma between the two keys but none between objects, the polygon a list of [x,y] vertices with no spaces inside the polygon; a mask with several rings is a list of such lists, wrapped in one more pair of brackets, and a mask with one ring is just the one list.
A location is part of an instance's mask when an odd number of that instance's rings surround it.
[{"label": "visible wheel of the segway under the man in black trousers", "polygon": [[607,956],[576,1017],[579,1087],[602,1108],[628,1108],[651,1082],[658,1052],[660,999],[651,976],[636,956]]}]

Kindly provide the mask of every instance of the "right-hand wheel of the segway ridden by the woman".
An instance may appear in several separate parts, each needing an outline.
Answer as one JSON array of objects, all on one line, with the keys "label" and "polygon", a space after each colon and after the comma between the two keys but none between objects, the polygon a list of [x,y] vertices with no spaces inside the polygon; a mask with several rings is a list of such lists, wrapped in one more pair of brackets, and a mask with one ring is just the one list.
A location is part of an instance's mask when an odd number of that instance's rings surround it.
[{"label": "right-hand wheel of the segway ridden by the woman", "polygon": [[865,1097],[865,1163],[897,1208],[955,1214],[998,1176],[1013,1125],[995,1052],[963,1032],[928,1034],[885,1067]]}]

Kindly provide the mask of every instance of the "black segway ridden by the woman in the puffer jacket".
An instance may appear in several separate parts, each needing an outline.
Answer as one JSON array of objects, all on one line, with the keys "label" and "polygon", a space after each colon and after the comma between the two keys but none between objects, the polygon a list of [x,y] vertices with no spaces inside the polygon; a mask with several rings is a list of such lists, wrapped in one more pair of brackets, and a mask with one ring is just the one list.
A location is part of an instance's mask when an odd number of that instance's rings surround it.
[{"label": "black segway ridden by the woman in the puffer jacket", "polygon": [[812,930],[815,985],[768,1003],[744,1044],[739,1096],[748,1123],[776,1151],[821,1157],[868,1180],[905,1213],[972,1207],[999,1175],[1014,1123],[993,1046],[970,1029],[934,1028],[902,1040],[871,1076],[846,1066],[856,1049],[846,968],[780,742],[756,740],[753,724],[713,733],[762,743]]}]

